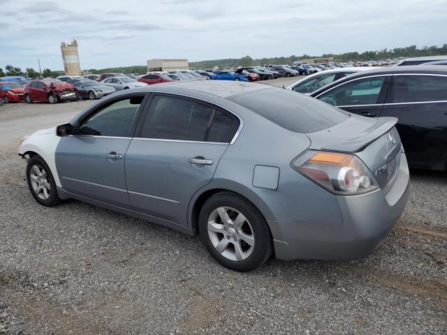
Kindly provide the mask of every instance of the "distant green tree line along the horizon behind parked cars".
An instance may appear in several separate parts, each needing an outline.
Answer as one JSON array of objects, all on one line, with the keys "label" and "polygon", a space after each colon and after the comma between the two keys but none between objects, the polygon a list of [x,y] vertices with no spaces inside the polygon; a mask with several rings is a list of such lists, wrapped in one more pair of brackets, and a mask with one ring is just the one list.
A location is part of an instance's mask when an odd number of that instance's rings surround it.
[{"label": "distant green tree line along the horizon behind parked cars", "polygon": [[[270,57],[270,58],[258,58],[253,59],[250,56],[244,56],[242,58],[228,58],[228,59],[212,59],[208,61],[191,61],[189,62],[190,68],[195,69],[208,69],[218,66],[219,68],[237,68],[238,66],[256,66],[264,64],[292,64],[294,61],[301,59],[312,58],[326,58],[333,57],[334,61],[378,61],[381,59],[391,59],[399,57],[423,57],[423,56],[439,56],[447,55],[447,44],[438,47],[432,45],[431,47],[422,47],[418,49],[416,45],[410,45],[409,47],[395,47],[394,49],[383,49],[378,51],[365,51],[365,52],[345,52],[343,54],[322,54],[321,56],[312,56],[309,54],[302,54],[301,56],[295,56],[294,54],[289,57]],[[122,66],[117,68],[90,68],[86,70],[88,73],[146,73],[146,66]],[[36,77],[57,77],[64,75],[64,71],[54,71],[49,68],[45,68],[42,73],[34,70],[34,68],[26,68],[22,71],[21,68],[16,68],[12,65],[7,65],[5,71],[0,68],[0,77],[5,75],[24,75],[29,78]]]}]

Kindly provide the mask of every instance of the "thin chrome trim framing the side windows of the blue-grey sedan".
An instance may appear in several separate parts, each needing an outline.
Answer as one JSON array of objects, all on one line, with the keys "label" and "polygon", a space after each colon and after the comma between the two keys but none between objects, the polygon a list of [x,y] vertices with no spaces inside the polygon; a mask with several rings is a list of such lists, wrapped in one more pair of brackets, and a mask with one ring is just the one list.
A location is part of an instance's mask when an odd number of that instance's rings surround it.
[{"label": "thin chrome trim framing the side windows of the blue-grey sedan", "polygon": [[[228,110],[227,107],[223,107],[222,105],[219,105],[218,103],[214,103],[212,101],[205,100],[205,99],[202,99],[202,98],[195,98],[193,96],[186,96],[186,94],[179,94],[179,93],[167,92],[167,91],[133,91],[133,92],[119,92],[118,94],[115,94],[114,96],[110,96],[109,98],[110,98],[110,100],[113,100],[117,96],[125,96],[127,94],[157,94],[157,93],[172,94],[174,96],[184,96],[185,98],[192,98],[192,99],[196,99],[196,100],[199,100],[199,101],[203,101],[205,103],[210,103],[211,105],[215,105],[215,106],[221,108],[222,110],[225,110],[226,112],[229,112],[230,114],[233,114],[235,117],[237,117],[237,119],[239,119],[239,128],[237,128],[237,131],[236,131],[235,135],[233,136],[233,139],[230,141],[230,143],[227,143],[227,142],[184,141],[184,140],[172,140],[172,141],[175,141],[175,142],[193,142],[193,143],[214,143],[214,144],[231,145],[231,144],[234,144],[236,142],[237,137],[239,137],[240,133],[242,132],[242,128],[244,128],[244,119],[242,119],[242,117],[240,117],[240,115],[236,114],[235,112],[233,112],[231,110]],[[99,103],[99,101],[98,101],[98,103]],[[83,114],[88,114],[91,110],[93,110],[95,105],[96,105],[96,103],[94,105],[92,105],[91,107],[89,107],[84,112],[82,112],[80,115],[78,115],[78,117],[76,117],[73,120],[73,123],[75,121],[78,121],[78,119],[80,119],[80,117]],[[99,136],[99,135],[88,135],[88,136],[105,137],[105,136]],[[105,138],[107,138],[107,137],[105,137]],[[117,138],[117,137],[109,136],[109,138]],[[149,139],[149,138],[142,138],[142,137],[118,137],[118,138],[135,138],[135,139],[138,139],[138,140],[162,140],[162,139]]]}]

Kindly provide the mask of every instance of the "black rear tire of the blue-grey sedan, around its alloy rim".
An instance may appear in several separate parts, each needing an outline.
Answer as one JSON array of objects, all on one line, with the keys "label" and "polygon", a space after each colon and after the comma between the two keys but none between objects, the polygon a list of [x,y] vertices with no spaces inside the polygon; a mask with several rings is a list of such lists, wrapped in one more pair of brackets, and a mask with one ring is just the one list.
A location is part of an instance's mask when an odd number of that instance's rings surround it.
[{"label": "black rear tire of the blue-grey sedan, around its alloy rim", "polygon": [[[239,261],[230,260],[221,255],[212,244],[207,229],[208,219],[212,212],[219,207],[231,207],[242,213],[249,221],[255,243],[253,251],[251,251],[248,258]],[[254,270],[257,267],[261,267],[273,253],[272,234],[268,228],[267,221],[265,221],[264,216],[254,204],[242,197],[242,195],[232,192],[220,192],[212,195],[200,209],[198,226],[200,237],[207,250],[220,265],[228,269],[240,272]]]}]

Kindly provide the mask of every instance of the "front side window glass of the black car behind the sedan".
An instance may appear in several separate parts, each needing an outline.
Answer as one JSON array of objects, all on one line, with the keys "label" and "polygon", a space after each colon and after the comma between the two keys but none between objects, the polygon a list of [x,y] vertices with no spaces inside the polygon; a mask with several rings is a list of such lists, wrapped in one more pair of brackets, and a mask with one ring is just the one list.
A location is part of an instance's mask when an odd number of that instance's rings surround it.
[{"label": "front side window glass of the black car behind the sedan", "polygon": [[385,77],[371,77],[346,82],[318,96],[334,106],[374,105],[379,99]]}]

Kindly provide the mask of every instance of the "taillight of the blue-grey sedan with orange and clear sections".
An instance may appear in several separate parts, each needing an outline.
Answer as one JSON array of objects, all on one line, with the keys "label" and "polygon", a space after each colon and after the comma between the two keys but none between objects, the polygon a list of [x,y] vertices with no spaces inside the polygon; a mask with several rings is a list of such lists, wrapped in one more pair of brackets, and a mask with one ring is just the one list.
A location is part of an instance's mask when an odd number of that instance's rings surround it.
[{"label": "taillight of the blue-grey sedan with orange and clear sections", "polygon": [[291,166],[332,193],[355,195],[379,188],[366,165],[353,154],[309,150]]}]

